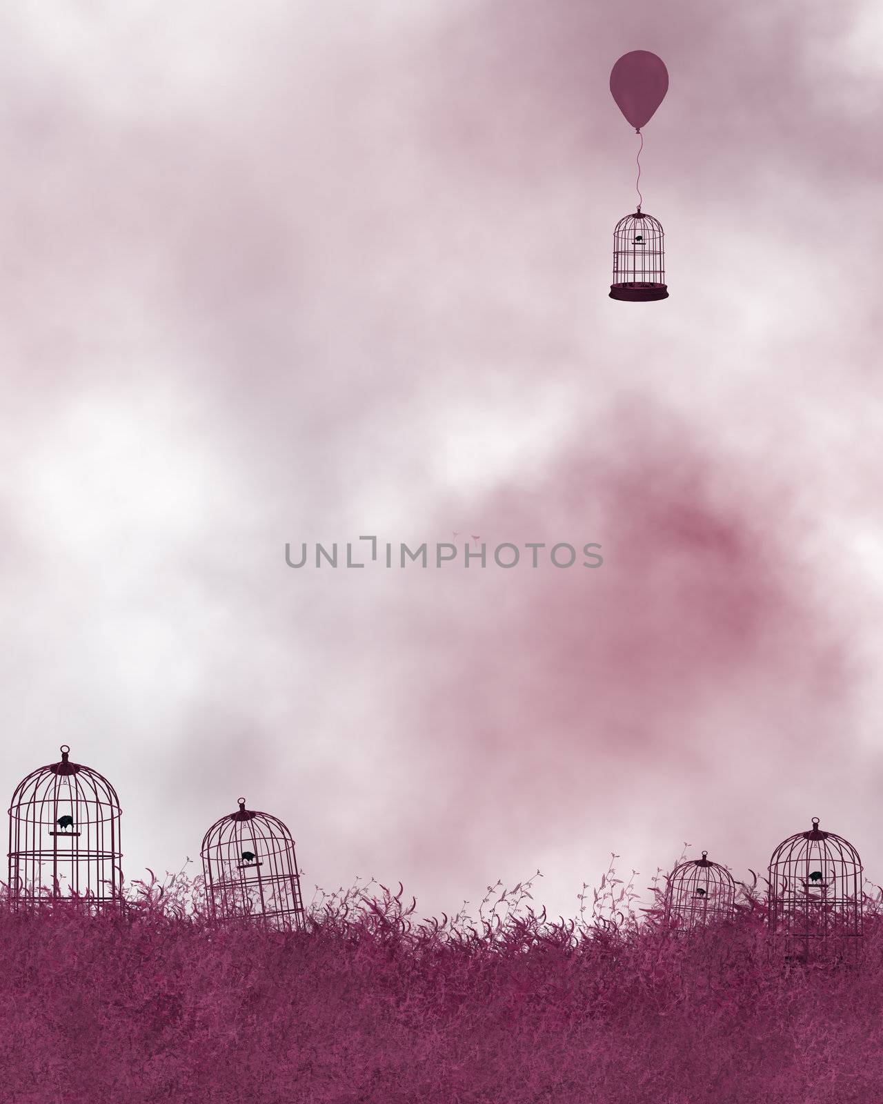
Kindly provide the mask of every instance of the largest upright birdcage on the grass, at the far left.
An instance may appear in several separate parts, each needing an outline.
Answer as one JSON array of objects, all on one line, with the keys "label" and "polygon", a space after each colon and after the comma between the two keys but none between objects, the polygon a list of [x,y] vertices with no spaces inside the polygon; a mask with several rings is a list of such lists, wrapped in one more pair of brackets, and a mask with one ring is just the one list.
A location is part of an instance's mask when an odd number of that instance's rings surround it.
[{"label": "largest upright birdcage on the grass, at the far left", "polygon": [[62,903],[87,911],[123,906],[120,807],[92,767],[61,762],[19,783],[9,808],[9,895],[13,909]]}]

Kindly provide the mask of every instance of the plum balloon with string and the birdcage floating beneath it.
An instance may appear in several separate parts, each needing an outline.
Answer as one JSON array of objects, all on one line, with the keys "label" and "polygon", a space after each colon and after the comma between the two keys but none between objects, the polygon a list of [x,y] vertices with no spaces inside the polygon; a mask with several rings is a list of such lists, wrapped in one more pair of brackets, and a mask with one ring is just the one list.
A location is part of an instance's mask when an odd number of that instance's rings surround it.
[{"label": "plum balloon with string and the birdcage floating beneath it", "polygon": [[638,205],[614,230],[614,282],[610,298],[630,302],[667,299],[666,247],[662,224],[641,211],[641,150],[645,126],[662,103],[669,87],[664,63],[647,50],[624,54],[610,71],[610,93],[627,121],[640,137],[635,189]]}]

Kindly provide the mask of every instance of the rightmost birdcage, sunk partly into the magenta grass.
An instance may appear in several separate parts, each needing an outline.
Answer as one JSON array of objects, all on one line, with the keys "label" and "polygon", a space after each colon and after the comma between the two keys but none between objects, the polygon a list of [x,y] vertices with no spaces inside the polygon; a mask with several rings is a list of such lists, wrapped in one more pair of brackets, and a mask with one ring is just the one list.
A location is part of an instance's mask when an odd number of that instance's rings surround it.
[{"label": "rightmost birdcage, sunk partly into the magenta grass", "polygon": [[785,954],[854,958],[862,935],[862,862],[855,848],[812,818],[809,831],[789,836],[769,860],[770,935]]}]

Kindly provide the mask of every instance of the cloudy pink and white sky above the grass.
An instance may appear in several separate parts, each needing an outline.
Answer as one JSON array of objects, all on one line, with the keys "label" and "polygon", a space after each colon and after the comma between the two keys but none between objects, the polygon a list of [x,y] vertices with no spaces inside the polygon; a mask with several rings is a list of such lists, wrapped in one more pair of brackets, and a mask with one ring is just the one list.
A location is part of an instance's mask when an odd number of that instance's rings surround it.
[{"label": "cloudy pink and white sky above the grass", "polygon": [[[883,878],[883,14],[702,0],[0,15],[0,788],[173,869],[248,804],[419,911],[610,851]],[[637,138],[671,298],[607,298]],[[599,541],[294,572],[286,541]],[[460,538],[460,541],[462,537]]]}]

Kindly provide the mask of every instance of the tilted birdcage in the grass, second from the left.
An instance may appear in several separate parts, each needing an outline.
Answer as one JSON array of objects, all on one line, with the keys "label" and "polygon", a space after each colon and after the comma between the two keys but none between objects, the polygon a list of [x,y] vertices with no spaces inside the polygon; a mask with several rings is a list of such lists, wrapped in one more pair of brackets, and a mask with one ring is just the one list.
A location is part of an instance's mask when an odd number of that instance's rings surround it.
[{"label": "tilted birdcage in the grass, second from the left", "polygon": [[253,920],[281,931],[304,927],[300,874],[291,832],[278,817],[240,808],[222,817],[202,840],[209,915]]}]

